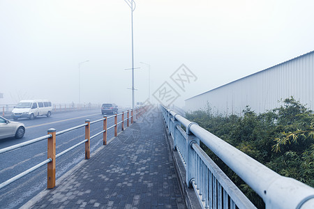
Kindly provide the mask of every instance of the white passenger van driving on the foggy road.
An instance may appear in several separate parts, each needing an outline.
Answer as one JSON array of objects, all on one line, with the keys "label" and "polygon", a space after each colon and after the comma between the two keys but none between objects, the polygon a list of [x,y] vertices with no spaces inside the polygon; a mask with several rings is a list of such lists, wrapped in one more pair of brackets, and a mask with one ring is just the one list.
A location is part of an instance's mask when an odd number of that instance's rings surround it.
[{"label": "white passenger van driving on the foggy road", "polygon": [[48,100],[22,100],[12,111],[14,120],[17,118],[33,118],[37,116],[50,117],[52,113],[52,104]]}]

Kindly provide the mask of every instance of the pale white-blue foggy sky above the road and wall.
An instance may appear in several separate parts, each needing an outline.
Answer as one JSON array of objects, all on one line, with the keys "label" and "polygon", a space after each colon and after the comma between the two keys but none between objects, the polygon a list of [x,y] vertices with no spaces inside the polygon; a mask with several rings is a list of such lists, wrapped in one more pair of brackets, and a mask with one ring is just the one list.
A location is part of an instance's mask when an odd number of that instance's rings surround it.
[{"label": "pale white-blue foggy sky above the road and wall", "polygon": [[[314,1],[137,0],[135,100],[184,63],[184,99],[314,49]],[[130,8],[124,0],[0,0],[0,104],[18,98],[131,106]],[[175,88],[175,86],[174,86]],[[151,99],[154,98],[151,96]]]}]

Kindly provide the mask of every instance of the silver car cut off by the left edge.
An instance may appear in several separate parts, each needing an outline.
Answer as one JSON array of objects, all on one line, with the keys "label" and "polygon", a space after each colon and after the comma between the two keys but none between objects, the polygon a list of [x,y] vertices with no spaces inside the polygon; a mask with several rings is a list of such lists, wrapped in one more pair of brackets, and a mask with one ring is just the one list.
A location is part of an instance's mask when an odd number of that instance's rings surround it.
[{"label": "silver car cut off by the left edge", "polygon": [[0,116],[0,139],[15,137],[21,139],[25,133],[25,126],[23,123],[9,121]]}]

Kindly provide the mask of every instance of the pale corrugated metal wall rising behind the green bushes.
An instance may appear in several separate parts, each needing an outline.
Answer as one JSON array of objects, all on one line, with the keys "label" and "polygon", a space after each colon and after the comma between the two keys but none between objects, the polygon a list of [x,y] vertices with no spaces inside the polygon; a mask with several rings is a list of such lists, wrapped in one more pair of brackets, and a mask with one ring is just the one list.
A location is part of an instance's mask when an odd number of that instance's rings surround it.
[{"label": "pale corrugated metal wall rising behind the green bushes", "polygon": [[186,100],[186,111],[207,109],[238,114],[247,105],[256,113],[280,107],[293,96],[314,110],[314,51]]}]

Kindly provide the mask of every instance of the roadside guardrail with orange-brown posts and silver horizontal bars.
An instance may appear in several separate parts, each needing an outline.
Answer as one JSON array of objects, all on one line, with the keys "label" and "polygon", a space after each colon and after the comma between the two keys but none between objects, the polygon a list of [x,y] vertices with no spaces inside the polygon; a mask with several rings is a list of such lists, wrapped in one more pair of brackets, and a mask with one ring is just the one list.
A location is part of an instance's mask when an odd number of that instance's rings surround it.
[{"label": "roadside guardrail with orange-brown posts and silver horizontal bars", "polygon": [[[40,162],[39,164],[36,164],[34,167],[31,167],[30,169],[27,169],[26,171],[18,174],[17,176],[14,176],[13,178],[10,178],[8,180],[6,180],[5,182],[0,184],[0,189],[3,187],[6,187],[6,185],[9,185],[10,183],[15,182],[16,180],[27,176],[27,174],[31,173],[32,171],[35,171],[36,169],[39,169],[40,167],[43,167],[45,164],[47,164],[47,188],[51,189],[53,187],[55,187],[55,176],[56,176],[56,159],[58,157],[61,157],[61,155],[64,155],[66,153],[68,153],[70,150],[73,150],[74,148],[77,148],[78,146],[85,144],[85,159],[89,159],[90,158],[90,140],[97,137],[100,134],[103,134],[103,145],[107,145],[107,131],[110,130],[111,128],[114,127],[114,137],[117,137],[117,127],[119,124],[121,124],[121,131],[124,130],[124,121],[127,121],[127,127],[129,126],[129,119],[131,119],[131,124],[135,121],[133,120],[133,118],[139,118],[140,116],[142,116],[142,114],[144,114],[144,111],[146,110],[145,107],[139,107],[136,108],[134,111],[133,109],[131,109],[131,111],[127,111],[127,117],[126,119],[124,119],[124,114],[125,112],[123,111],[121,114],[115,114],[113,116],[103,116],[103,118],[98,119],[96,121],[89,121],[86,120],[84,124],[82,125],[77,125],[75,127],[71,127],[68,128],[66,130],[62,130],[60,132],[56,132],[55,129],[51,128],[49,130],[47,130],[47,135],[43,136],[43,137],[38,137],[36,139],[31,139],[29,141],[20,143],[20,144],[16,144],[14,146],[9,146],[7,148],[2,148],[0,149],[0,154],[1,153],[7,153],[11,150],[15,150],[17,148],[21,148],[23,146],[28,146],[30,144],[34,144],[38,141],[43,141],[45,139],[47,139],[48,141],[48,146],[47,146],[47,160]],[[129,112],[131,112],[131,114],[129,114]],[[133,114],[135,113],[135,115]],[[121,115],[121,122],[117,123],[117,118],[118,116]],[[107,120],[110,118],[114,118],[114,125],[112,125],[111,127],[107,127]],[[98,123],[100,121],[103,121],[103,130],[98,132],[97,134],[94,134],[94,136],[90,136],[90,128],[91,128],[91,124],[94,123]],[[79,143],[75,144],[74,146],[71,146],[70,148],[63,150],[61,153],[56,155],[56,137],[64,134],[66,132],[71,132],[73,130],[77,130],[80,127],[85,127],[85,139],[83,141],[80,141]]]}]

